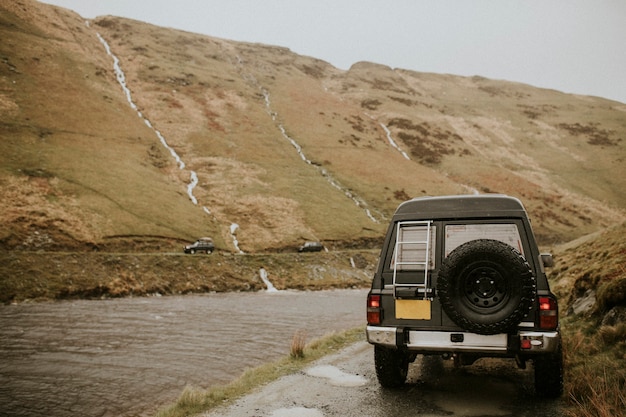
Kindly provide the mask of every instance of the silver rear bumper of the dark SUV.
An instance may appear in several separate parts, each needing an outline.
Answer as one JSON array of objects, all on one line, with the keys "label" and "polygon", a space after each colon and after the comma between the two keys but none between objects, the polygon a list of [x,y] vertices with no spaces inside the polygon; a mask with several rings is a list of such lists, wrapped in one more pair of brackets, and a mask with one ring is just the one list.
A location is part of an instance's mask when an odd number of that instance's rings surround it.
[{"label": "silver rear bumper of the dark SUV", "polygon": [[367,326],[367,341],[387,347],[401,347],[417,352],[549,353],[560,343],[557,331],[519,330],[515,335],[480,335],[465,332],[436,332],[400,327]]}]

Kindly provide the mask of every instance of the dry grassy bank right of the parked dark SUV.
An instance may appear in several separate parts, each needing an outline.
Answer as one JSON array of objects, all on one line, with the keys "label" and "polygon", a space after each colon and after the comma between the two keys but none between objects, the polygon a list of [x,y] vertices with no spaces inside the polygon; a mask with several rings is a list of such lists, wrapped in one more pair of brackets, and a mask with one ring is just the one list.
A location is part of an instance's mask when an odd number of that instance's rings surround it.
[{"label": "dry grassy bank right of the parked dark SUV", "polygon": [[625,231],[622,224],[556,253],[550,279],[563,316],[576,298],[597,291],[593,310],[561,321],[569,417],[613,417],[626,409],[626,323],[601,324],[612,308],[626,307]]}]

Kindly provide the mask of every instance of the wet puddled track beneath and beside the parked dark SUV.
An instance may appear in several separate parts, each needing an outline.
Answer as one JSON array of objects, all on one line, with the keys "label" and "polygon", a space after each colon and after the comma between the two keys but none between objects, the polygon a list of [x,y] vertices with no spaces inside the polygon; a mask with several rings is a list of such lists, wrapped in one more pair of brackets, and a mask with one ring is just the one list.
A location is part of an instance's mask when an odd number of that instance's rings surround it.
[{"label": "wet puddled track beneath and beside the parked dark SUV", "polygon": [[511,361],[454,369],[451,361],[418,357],[406,386],[386,390],[376,381],[373,355],[359,342],[206,416],[561,416],[560,401],[535,398],[532,371]]}]

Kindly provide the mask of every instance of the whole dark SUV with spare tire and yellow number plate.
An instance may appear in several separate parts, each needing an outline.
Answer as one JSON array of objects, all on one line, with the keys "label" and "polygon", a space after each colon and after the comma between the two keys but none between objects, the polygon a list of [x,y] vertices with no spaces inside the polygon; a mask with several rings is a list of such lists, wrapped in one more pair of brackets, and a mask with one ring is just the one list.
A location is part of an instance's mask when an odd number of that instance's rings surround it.
[{"label": "whole dark SUV with spare tire and yellow number plate", "polygon": [[417,198],[387,230],[367,298],[367,340],[384,387],[418,354],[471,365],[532,361],[538,395],[563,391],[558,304],[522,203],[505,195]]}]

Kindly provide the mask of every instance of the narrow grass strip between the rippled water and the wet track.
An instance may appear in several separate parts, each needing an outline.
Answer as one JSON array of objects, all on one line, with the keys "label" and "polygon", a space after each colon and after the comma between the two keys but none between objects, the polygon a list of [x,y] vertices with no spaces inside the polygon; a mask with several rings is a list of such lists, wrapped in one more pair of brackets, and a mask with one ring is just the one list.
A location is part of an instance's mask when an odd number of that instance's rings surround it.
[{"label": "narrow grass strip between the rippled water and the wet track", "polygon": [[[357,327],[329,334],[312,341],[302,348],[304,334],[298,332],[292,341],[292,353],[289,356],[248,369],[239,378],[227,385],[212,387],[208,390],[191,386],[186,387],[175,403],[158,411],[156,416],[192,416],[210,411],[218,406],[227,406],[260,386],[275,381],[282,376],[298,372],[325,355],[336,352],[357,341],[364,340],[364,335],[363,328]],[[296,347],[296,352],[302,348],[301,356],[300,354],[293,354],[294,346]]]}]

